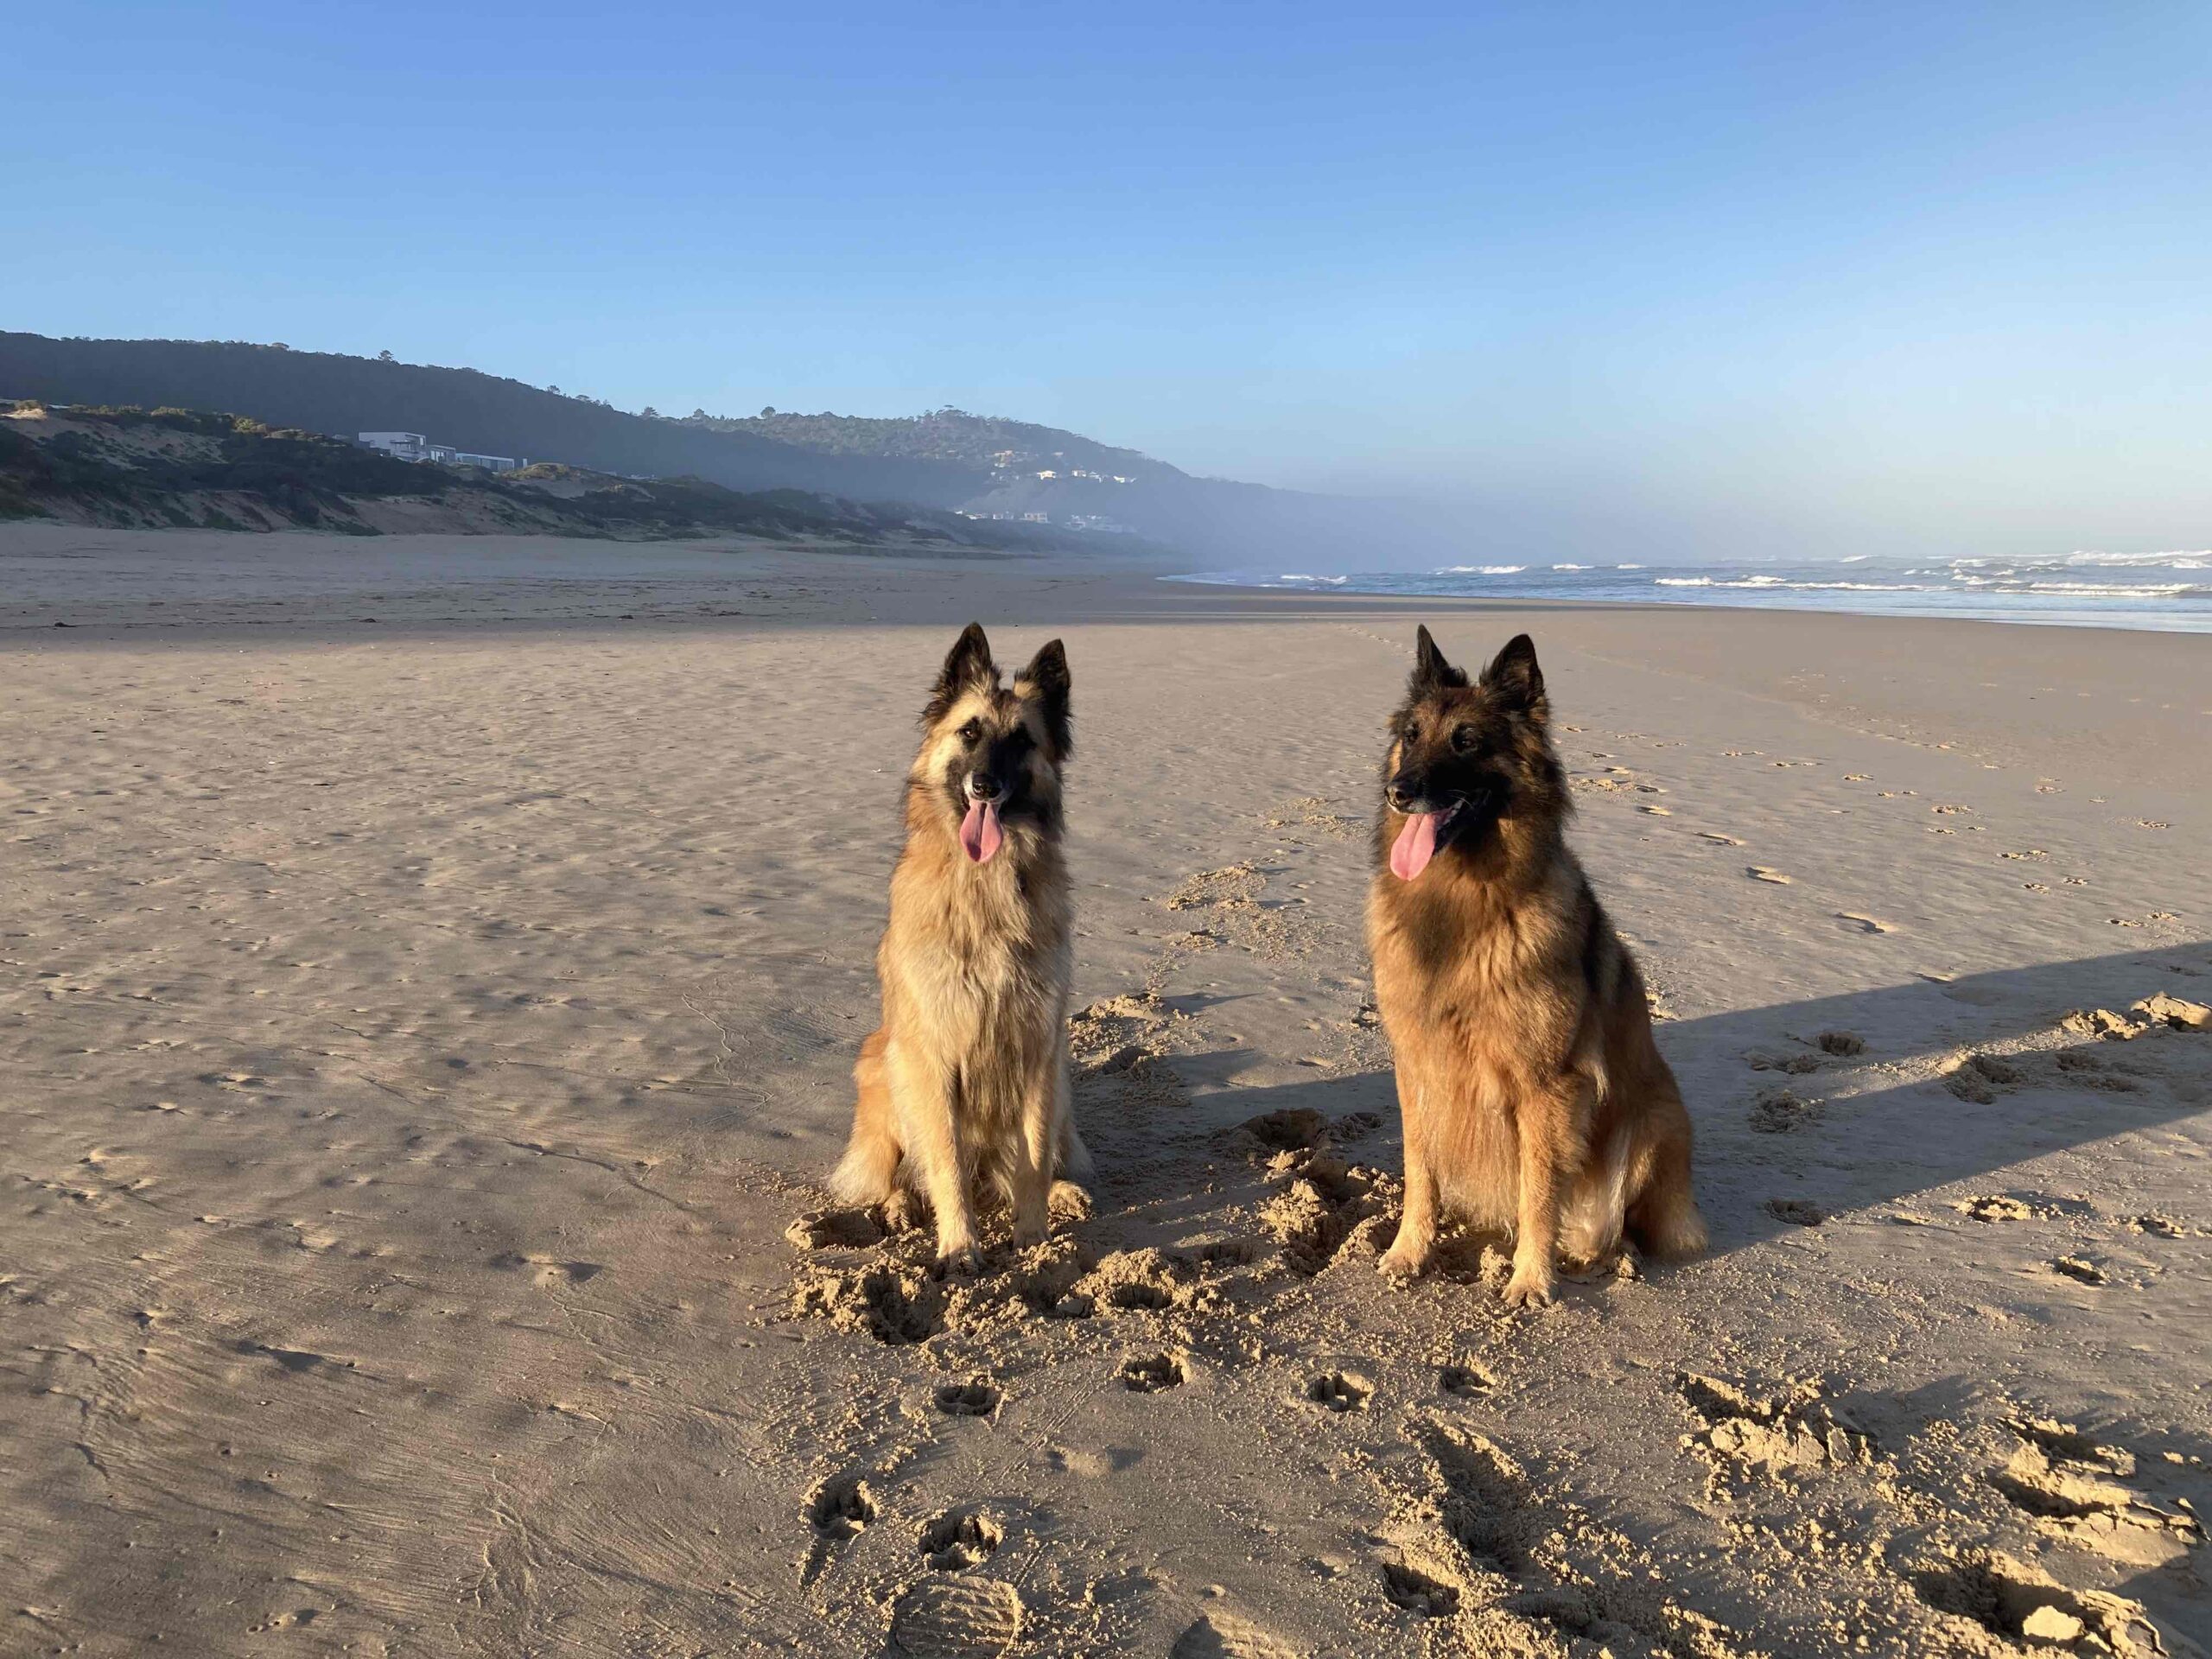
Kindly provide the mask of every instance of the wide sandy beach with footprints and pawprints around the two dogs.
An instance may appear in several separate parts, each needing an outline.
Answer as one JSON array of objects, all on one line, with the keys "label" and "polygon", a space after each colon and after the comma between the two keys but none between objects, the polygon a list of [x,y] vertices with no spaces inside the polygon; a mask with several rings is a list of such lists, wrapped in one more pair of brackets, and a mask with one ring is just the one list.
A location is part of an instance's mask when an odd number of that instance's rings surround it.
[{"label": "wide sandy beach with footprints and pawprints around the two dogs", "polygon": [[[971,615],[1102,1183],[945,1290],[816,1179]],[[1416,617],[1535,633],[1697,1119],[1540,1316],[1374,1267]],[[0,626],[4,1652],[2212,1641],[2212,641],[51,526]]]}]

